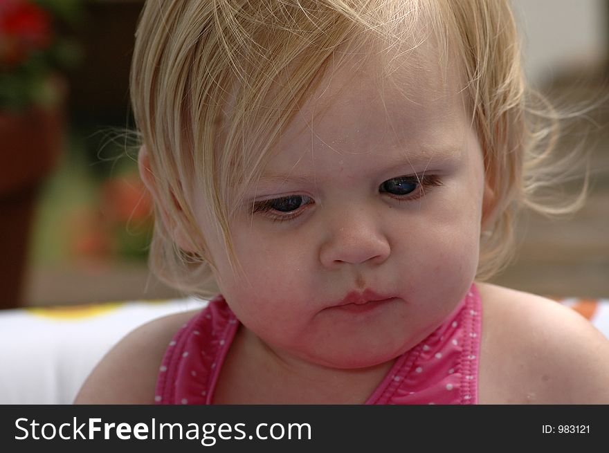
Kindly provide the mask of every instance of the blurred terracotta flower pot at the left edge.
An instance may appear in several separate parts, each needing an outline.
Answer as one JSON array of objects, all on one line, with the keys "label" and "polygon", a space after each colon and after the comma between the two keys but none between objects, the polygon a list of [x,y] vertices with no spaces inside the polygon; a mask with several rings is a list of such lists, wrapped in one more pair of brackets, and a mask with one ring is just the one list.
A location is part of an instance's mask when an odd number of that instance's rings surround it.
[{"label": "blurred terracotta flower pot at the left edge", "polygon": [[63,104],[0,111],[0,308],[23,302],[33,210],[62,149]]}]

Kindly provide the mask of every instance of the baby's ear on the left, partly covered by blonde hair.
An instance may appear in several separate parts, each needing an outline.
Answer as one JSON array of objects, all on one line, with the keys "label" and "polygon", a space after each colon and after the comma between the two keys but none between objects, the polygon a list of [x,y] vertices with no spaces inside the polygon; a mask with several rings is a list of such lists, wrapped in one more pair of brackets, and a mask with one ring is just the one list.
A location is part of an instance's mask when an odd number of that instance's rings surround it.
[{"label": "baby's ear on the left, partly covered by blonde hair", "polygon": [[[150,156],[148,154],[146,145],[142,145],[140,147],[140,151],[138,152],[138,169],[140,171],[140,178],[142,178],[144,185],[150,192],[154,204],[158,207],[158,213],[161,215],[161,219],[157,219],[157,221],[160,220],[163,222],[165,229],[171,234],[172,239],[179,246],[179,248],[185,252],[196,252],[196,250],[194,250],[192,247],[191,241],[188,240],[188,235],[185,234],[181,223],[176,221],[176,219],[172,219],[172,216],[170,216],[167,212],[167,200],[159,196],[158,187],[156,185],[156,176],[150,167]],[[174,203],[176,210],[178,210],[180,214],[182,213],[182,208],[173,193],[171,194],[170,203]]]}]

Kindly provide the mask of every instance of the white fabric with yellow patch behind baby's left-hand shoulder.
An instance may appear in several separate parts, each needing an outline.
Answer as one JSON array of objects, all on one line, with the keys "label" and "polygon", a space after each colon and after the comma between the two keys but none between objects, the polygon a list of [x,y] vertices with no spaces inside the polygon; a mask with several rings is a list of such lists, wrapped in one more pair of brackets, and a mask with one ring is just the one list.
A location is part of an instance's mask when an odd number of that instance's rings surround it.
[{"label": "white fabric with yellow patch behind baby's left-hand shoulder", "polygon": [[129,331],[204,304],[177,299],[0,311],[0,404],[71,404]]}]

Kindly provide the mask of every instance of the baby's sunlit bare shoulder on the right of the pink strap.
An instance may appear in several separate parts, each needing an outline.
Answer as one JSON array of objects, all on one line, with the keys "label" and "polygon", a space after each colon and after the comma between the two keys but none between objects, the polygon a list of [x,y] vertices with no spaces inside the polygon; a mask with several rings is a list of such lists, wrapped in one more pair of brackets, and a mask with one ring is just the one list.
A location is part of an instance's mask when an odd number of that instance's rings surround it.
[{"label": "baby's sunlit bare shoulder on the right of the pink strap", "polygon": [[609,404],[609,340],[557,302],[478,284],[480,402]]}]

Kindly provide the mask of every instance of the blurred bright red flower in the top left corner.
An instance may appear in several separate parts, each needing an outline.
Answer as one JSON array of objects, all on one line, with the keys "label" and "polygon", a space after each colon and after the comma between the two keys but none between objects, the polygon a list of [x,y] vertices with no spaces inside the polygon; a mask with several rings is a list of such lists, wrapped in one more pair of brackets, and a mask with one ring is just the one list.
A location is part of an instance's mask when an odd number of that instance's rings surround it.
[{"label": "blurred bright red flower in the top left corner", "polygon": [[25,0],[0,0],[0,62],[19,64],[33,50],[51,44],[51,18]]}]

